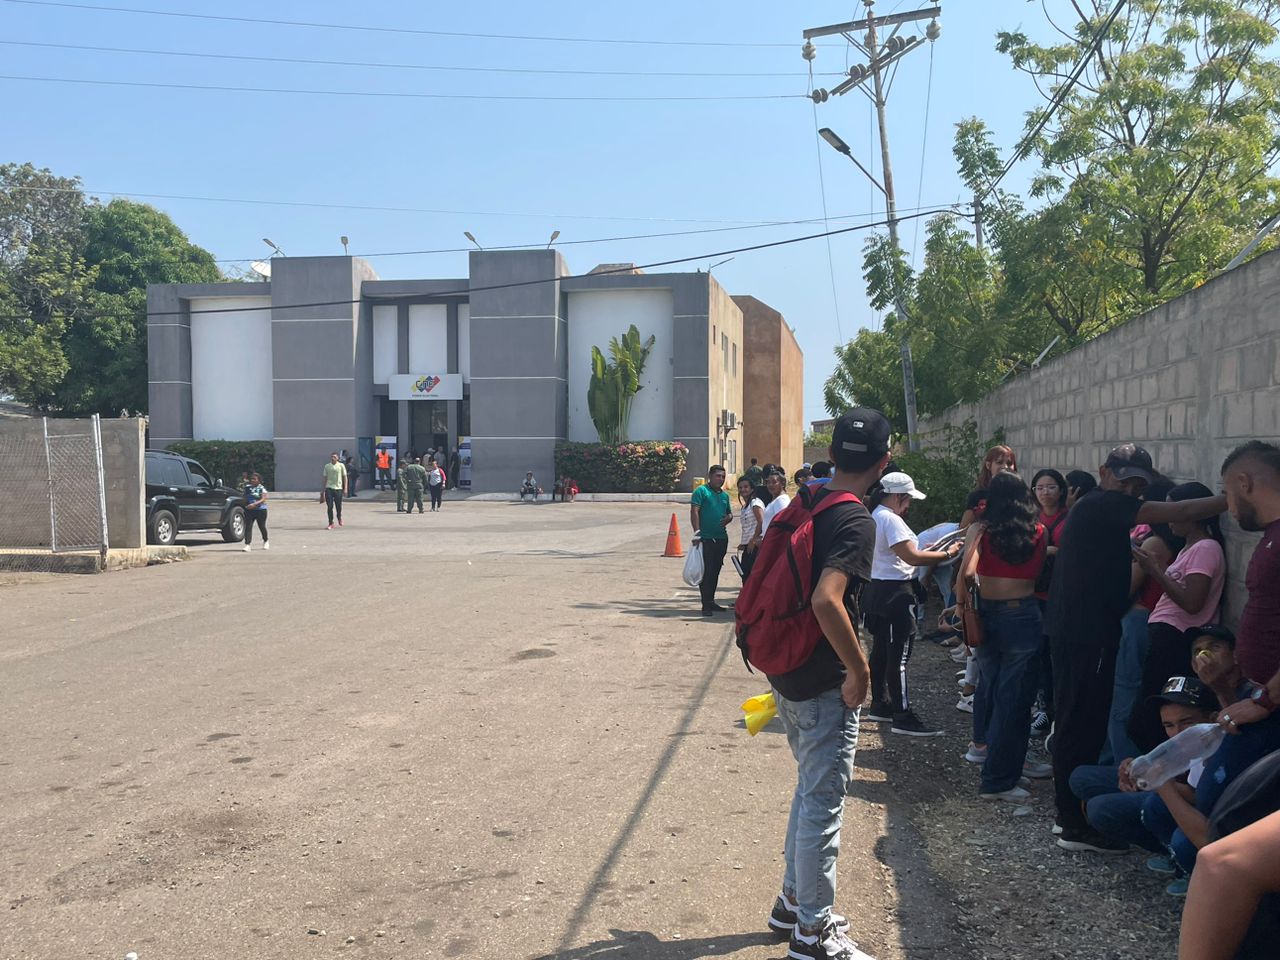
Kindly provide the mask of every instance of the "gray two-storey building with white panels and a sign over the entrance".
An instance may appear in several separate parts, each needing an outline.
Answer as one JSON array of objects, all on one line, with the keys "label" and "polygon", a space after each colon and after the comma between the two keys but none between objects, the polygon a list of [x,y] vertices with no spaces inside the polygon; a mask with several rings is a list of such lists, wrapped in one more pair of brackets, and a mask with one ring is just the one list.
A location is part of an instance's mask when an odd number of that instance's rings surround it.
[{"label": "gray two-storey building with white panels and a sign over the entrance", "polygon": [[655,343],[630,439],[686,444],[686,488],[713,462],[741,468],[742,311],[713,276],[571,275],[554,250],[474,251],[468,274],[383,280],[358,257],[276,257],[264,283],[148,288],[151,447],[269,439],[276,486],[312,490],[335,449],[462,444],[471,489],[515,490],[527,470],[549,488],[556,443],[596,439],[591,347],[635,324]]}]

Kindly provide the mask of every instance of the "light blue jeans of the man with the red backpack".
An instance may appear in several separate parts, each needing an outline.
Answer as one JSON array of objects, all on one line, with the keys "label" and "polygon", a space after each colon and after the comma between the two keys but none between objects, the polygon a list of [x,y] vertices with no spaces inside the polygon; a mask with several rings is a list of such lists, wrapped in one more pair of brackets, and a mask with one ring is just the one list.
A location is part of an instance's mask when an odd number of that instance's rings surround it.
[{"label": "light blue jeans of the man with the red backpack", "polygon": [[782,890],[796,901],[800,924],[819,929],[836,902],[836,858],[845,795],[854,778],[858,710],[845,707],[838,687],[812,700],[787,700],[774,690],[773,699],[797,768]]}]

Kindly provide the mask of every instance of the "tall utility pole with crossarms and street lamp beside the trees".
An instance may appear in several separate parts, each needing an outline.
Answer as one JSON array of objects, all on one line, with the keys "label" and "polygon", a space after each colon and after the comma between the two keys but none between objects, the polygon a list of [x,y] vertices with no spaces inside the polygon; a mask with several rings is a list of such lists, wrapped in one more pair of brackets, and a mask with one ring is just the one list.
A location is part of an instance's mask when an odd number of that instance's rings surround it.
[{"label": "tall utility pole with crossarms and street lamp beside the trees", "polygon": [[[850,44],[861,50],[867,58],[868,64],[855,64],[849,68],[849,79],[838,83],[829,92],[826,90],[815,90],[810,93],[814,102],[826,102],[831,96],[841,96],[852,88],[861,90],[863,93],[870,97],[876,106],[876,119],[879,125],[879,138],[881,138],[881,166],[882,166],[882,183],[877,183],[872,178],[872,183],[879,187],[881,192],[884,195],[884,219],[888,225],[890,241],[892,241],[893,247],[902,252],[902,244],[899,241],[897,234],[897,202],[893,195],[893,168],[890,163],[890,150],[888,150],[888,127],[884,119],[884,106],[886,96],[888,93],[888,86],[884,79],[884,69],[892,63],[897,61],[908,52],[924,44],[927,37],[929,42],[934,41],[941,36],[942,29],[938,27],[937,15],[942,13],[941,6],[929,6],[922,10],[913,10],[910,13],[888,14],[886,17],[876,17],[872,13],[872,8],[876,5],[876,0],[863,0],[867,6],[867,18],[861,20],[852,20],[850,23],[835,23],[827,27],[814,27],[813,29],[806,29],[804,32],[805,45],[803,55],[806,60],[812,60],[817,54],[813,46],[814,37],[831,36],[833,33],[842,35]],[[904,23],[911,23],[915,20],[928,19],[929,26],[925,29],[925,37],[900,37],[899,31]],[[879,40],[877,35],[877,26],[884,28],[892,28],[890,36],[883,41]],[[855,36],[855,31],[864,29],[867,35],[864,41],[860,42]],[[867,91],[865,81],[872,81],[872,91]],[[829,132],[829,131],[828,131]],[[852,152],[845,147],[837,146],[842,143],[838,137],[826,136],[828,143],[836,146],[840,152],[849,156],[850,160],[858,163],[854,159]],[[867,173],[861,164],[858,164],[863,173]],[[870,174],[867,174],[870,177]],[[899,325],[899,349],[902,356],[902,398],[906,410],[906,434],[908,434],[908,447],[913,451],[920,448],[918,419],[915,410],[915,365],[911,360],[911,340],[908,335],[906,323],[908,312],[902,305],[901,296],[895,297],[895,312],[897,314]]]}]

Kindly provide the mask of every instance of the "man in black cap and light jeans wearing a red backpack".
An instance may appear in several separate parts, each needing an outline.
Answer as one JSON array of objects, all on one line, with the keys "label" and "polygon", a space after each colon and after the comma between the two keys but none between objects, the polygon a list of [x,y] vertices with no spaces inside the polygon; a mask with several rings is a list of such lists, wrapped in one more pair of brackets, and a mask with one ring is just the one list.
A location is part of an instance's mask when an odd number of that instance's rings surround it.
[{"label": "man in black cap and light jeans wearing a red backpack", "polygon": [[836,421],[826,486],[803,486],[769,526],[736,604],[737,643],[765,673],[796,758],[782,893],[769,927],[795,960],[869,960],[832,911],[858,708],[870,669],[858,640],[876,522],[861,503],[888,463],[890,424],[855,407]]}]

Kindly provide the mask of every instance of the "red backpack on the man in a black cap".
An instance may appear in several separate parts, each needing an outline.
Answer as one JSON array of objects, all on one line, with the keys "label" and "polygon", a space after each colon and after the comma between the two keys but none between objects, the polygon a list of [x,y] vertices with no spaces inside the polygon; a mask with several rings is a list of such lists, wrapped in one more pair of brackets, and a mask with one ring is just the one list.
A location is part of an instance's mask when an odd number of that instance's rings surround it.
[{"label": "red backpack on the man in a black cap", "polygon": [[813,613],[817,586],[813,520],[840,503],[861,503],[847,490],[801,485],[773,518],[733,604],[737,645],[748,669],[780,676],[803,664],[822,637]]}]

